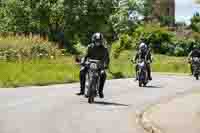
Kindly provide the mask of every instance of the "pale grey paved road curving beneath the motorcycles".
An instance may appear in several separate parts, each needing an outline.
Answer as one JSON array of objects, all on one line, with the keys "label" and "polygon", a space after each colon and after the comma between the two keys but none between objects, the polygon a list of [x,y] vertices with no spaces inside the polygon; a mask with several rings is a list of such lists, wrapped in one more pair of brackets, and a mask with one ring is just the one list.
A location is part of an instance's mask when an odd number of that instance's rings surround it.
[{"label": "pale grey paved road curving beneath the motorcycles", "polygon": [[161,98],[200,88],[189,76],[161,76],[147,88],[107,81],[105,99],[89,105],[79,84],[0,89],[0,133],[143,133],[136,112]]}]

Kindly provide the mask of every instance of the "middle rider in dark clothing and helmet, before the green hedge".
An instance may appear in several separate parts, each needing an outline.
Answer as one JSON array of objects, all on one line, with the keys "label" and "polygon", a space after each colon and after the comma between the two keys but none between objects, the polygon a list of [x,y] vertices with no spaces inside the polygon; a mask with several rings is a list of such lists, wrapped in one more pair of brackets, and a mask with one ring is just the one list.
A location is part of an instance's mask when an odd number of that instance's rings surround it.
[{"label": "middle rider in dark clothing and helmet, before the green hedge", "polygon": [[[139,45],[139,51],[136,53],[135,56],[135,62],[137,62],[137,60],[146,60],[147,61],[147,73],[148,73],[148,78],[149,80],[152,80],[151,77],[151,66],[150,63],[152,62],[152,57],[151,57],[151,52],[150,52],[150,48],[148,47],[148,45],[145,43],[144,39],[142,39],[142,42]],[[136,65],[136,80],[138,80],[138,65]]]}]

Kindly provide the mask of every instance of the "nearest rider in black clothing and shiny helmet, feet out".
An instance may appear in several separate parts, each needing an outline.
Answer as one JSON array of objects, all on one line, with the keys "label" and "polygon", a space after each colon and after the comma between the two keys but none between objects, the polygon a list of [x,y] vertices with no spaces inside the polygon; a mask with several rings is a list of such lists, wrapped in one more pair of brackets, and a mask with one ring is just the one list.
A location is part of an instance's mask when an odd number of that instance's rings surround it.
[{"label": "nearest rider in black clothing and shiny helmet, feet out", "polygon": [[106,72],[105,69],[108,68],[109,65],[109,53],[108,49],[104,46],[104,37],[102,33],[95,33],[92,36],[92,43],[88,46],[88,50],[86,56],[82,60],[83,67],[80,70],[80,93],[78,95],[85,94],[85,81],[86,81],[86,73],[87,67],[84,66],[87,59],[100,60],[102,66],[100,73],[100,86],[99,86],[99,97],[104,98],[103,87],[106,81]]}]

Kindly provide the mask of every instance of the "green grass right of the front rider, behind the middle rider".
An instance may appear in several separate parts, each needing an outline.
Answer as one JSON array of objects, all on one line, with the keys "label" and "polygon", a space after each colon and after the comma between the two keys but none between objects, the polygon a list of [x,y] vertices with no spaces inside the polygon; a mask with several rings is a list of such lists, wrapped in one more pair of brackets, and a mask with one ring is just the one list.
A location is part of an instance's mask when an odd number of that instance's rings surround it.
[{"label": "green grass right of the front rider, behind the middle rider", "polygon": [[[111,56],[110,78],[130,78],[135,76],[135,65],[131,63],[134,51],[123,51],[118,58]],[[189,73],[190,69],[186,57],[173,57],[154,55],[152,63],[153,72]]]}]

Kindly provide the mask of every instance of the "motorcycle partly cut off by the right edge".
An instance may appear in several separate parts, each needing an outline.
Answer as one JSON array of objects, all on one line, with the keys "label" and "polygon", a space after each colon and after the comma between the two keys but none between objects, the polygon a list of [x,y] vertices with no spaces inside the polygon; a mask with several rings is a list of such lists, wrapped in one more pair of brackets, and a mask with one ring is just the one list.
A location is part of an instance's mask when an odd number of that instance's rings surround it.
[{"label": "motorcycle partly cut off by the right edge", "polygon": [[196,80],[199,80],[200,76],[200,58],[193,57],[192,58],[192,69],[193,69],[193,75],[196,78]]}]

